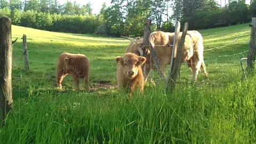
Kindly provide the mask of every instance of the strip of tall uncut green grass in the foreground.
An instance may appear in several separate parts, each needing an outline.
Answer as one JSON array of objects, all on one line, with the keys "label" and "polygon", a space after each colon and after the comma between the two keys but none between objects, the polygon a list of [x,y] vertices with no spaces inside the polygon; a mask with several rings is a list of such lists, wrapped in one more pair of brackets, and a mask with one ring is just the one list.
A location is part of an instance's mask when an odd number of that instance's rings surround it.
[{"label": "strip of tall uncut green grass in the foreground", "polygon": [[255,143],[256,78],[217,89],[187,84],[173,94],[147,86],[132,99],[77,92],[15,102],[2,143]]}]

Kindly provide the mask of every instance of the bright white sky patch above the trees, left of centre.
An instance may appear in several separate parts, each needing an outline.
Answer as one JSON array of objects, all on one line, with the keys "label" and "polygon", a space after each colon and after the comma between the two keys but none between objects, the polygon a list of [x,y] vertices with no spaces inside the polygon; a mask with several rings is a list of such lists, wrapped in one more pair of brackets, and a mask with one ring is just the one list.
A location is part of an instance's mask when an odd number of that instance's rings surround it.
[{"label": "bright white sky patch above the trees, left of centre", "polygon": [[[76,1],[80,5],[91,3],[92,13],[98,14],[102,8],[102,4],[106,2],[107,7],[110,6],[111,0],[69,0],[70,2]],[[64,4],[67,0],[59,0],[60,4]]]}]

